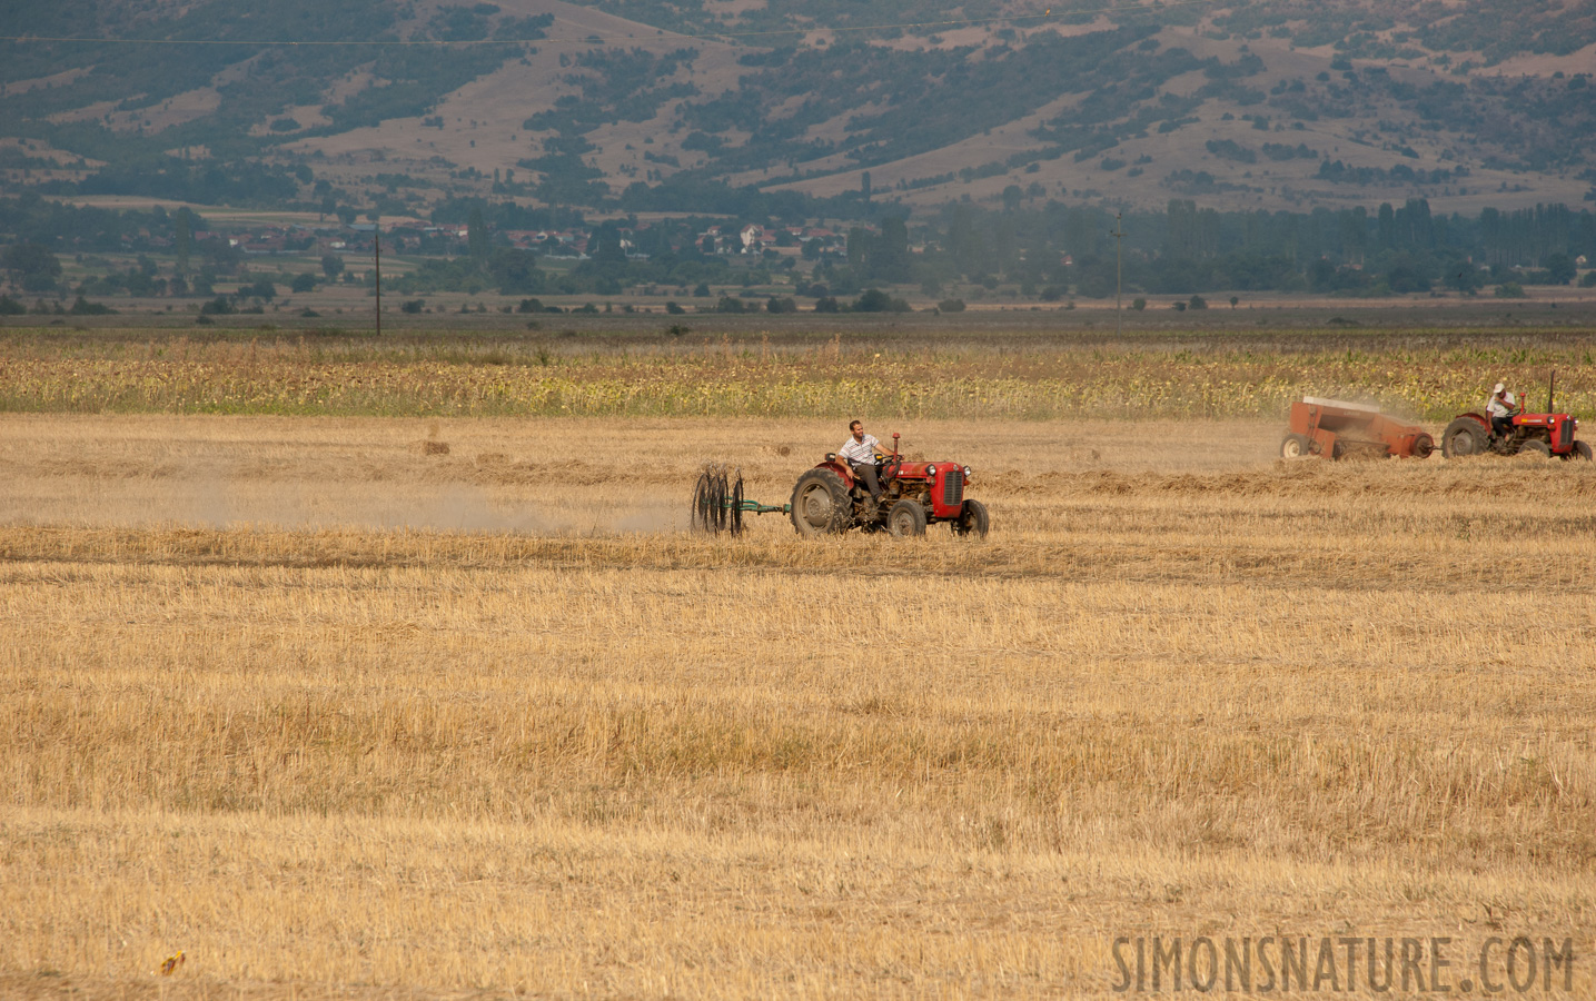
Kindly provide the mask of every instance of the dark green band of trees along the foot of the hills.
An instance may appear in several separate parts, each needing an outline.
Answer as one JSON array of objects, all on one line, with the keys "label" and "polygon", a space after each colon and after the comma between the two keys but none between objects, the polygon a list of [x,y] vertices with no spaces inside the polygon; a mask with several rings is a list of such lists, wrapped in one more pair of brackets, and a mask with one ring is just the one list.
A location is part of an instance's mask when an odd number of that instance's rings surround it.
[{"label": "dark green band of trees along the foot of the hills", "polygon": [[[241,254],[227,241],[195,244],[193,233],[203,220],[187,209],[118,214],[22,201],[0,200],[0,231],[13,233],[0,267],[22,292],[59,291],[57,252],[83,246],[86,233],[94,233],[88,243],[104,241],[115,249],[156,243],[171,249],[177,257],[174,275],[188,279],[187,289],[195,292],[241,265]],[[975,289],[1017,286],[1018,294],[1042,300],[1103,297],[1114,292],[1120,273],[1127,292],[1179,295],[1221,289],[1473,292],[1503,281],[1567,284],[1578,276],[1578,257],[1596,257],[1596,216],[1561,204],[1510,212],[1486,209],[1464,217],[1432,214],[1424,200],[1382,204],[1374,212],[1353,208],[1307,214],[1219,212],[1173,200],[1163,212],[1122,217],[1061,203],[1047,203],[1036,212],[953,204],[924,220],[889,209],[873,227],[852,227],[846,252],[812,244],[801,254],[788,249],[737,257],[704,251],[699,233],[710,219],[651,225],[614,219],[591,227],[586,260],[549,268],[535,254],[511,247],[503,230],[530,228],[527,224],[587,225],[579,216],[512,203],[456,203],[453,209],[469,219],[466,244],[417,244],[417,268],[396,278],[397,292],[614,295],[637,286],[678,287],[683,294],[699,286],[707,295],[710,284],[752,289],[774,284],[784,271],[790,278],[780,284],[816,300],[889,284],[918,284],[924,294],[940,295],[961,283]],[[49,222],[59,222],[62,233],[51,236],[45,230]],[[749,222],[774,220],[713,222],[723,231],[734,231]],[[1117,247],[1116,231],[1124,233]],[[190,271],[190,255],[198,275]],[[326,276],[332,279],[342,259],[332,255],[329,262]],[[152,278],[153,268],[140,263],[120,276],[107,275],[97,287],[139,294],[152,287]]]}]

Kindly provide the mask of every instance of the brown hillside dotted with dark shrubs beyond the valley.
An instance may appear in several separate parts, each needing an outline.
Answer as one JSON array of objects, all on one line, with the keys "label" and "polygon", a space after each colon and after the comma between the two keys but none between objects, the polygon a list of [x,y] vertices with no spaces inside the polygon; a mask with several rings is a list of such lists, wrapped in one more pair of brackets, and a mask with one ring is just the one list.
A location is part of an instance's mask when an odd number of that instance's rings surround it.
[{"label": "brown hillside dotted with dark shrubs beyond the valley", "polygon": [[1593,8],[1045,10],[22,0],[0,169],[13,190],[385,216],[487,193],[734,211],[725,185],[921,208],[1596,196]]}]

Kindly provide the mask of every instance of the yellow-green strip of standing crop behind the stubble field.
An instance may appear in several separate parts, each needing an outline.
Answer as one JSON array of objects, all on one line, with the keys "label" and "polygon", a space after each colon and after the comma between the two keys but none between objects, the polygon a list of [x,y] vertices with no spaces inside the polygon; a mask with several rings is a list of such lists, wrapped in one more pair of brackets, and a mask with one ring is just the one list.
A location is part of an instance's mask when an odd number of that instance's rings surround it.
[{"label": "yellow-green strip of standing crop behind the stubble field", "polygon": [[1283,415],[1293,399],[1371,401],[1443,421],[1507,380],[1543,407],[1596,412],[1596,340],[1556,348],[1267,351],[998,342],[881,353],[705,342],[409,346],[370,340],[0,342],[0,410],[423,417],[913,417],[1052,420]]}]

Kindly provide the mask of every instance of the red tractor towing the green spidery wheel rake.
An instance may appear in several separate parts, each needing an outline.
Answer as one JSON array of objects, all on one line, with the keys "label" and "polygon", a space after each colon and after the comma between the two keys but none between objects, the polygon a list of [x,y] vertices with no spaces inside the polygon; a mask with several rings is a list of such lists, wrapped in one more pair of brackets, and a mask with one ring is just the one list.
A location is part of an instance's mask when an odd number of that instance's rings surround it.
[{"label": "red tractor towing the green spidery wheel rake", "polygon": [[990,525],[986,504],[964,497],[970,468],[951,461],[905,461],[897,439],[894,434],[892,455],[876,455],[876,477],[883,490],[879,503],[835,452],[800,476],[788,504],[798,535],[849,528],[926,535],[926,525],[946,522],[954,535],[985,536]]}]

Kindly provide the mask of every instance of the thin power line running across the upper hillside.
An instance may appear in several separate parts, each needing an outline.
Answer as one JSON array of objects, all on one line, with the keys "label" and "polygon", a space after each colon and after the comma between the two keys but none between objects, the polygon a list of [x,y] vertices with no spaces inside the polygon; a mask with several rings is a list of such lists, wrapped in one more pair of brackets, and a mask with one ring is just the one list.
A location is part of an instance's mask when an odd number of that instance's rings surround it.
[{"label": "thin power line running across the upper hillside", "polygon": [[[1052,8],[1041,14],[1018,14],[1012,18],[961,18],[950,21],[910,21],[902,24],[862,24],[862,26],[841,26],[841,27],[793,27],[793,29],[772,29],[763,32],[717,32],[717,34],[683,34],[669,32],[658,35],[598,35],[589,34],[583,37],[565,35],[565,37],[544,37],[544,38],[461,38],[453,42],[445,40],[423,40],[423,38],[365,38],[356,42],[329,42],[329,40],[303,40],[303,38],[241,38],[241,40],[223,40],[223,38],[81,38],[70,35],[0,35],[0,42],[16,42],[22,45],[29,43],[72,43],[72,45],[163,45],[163,46],[246,46],[246,48],[472,48],[472,46],[525,46],[525,45],[642,45],[646,42],[701,42],[707,45],[737,45],[736,40],[749,38],[776,38],[776,37],[792,37],[792,35],[811,35],[816,32],[824,34],[859,34],[859,32],[892,32],[892,30],[950,30],[954,27],[978,27],[986,24],[1023,24],[1023,22],[1045,22],[1058,21],[1065,14],[1080,16],[1080,14],[1159,14],[1167,10],[1175,10],[1181,6],[1211,6],[1218,0],[1175,0],[1171,3],[1160,3],[1157,6],[1144,6],[1140,3],[1120,5],[1120,6],[1104,6],[1098,10],[1071,10],[1060,14],[1053,14]],[[728,42],[728,38],[734,42]]]}]

